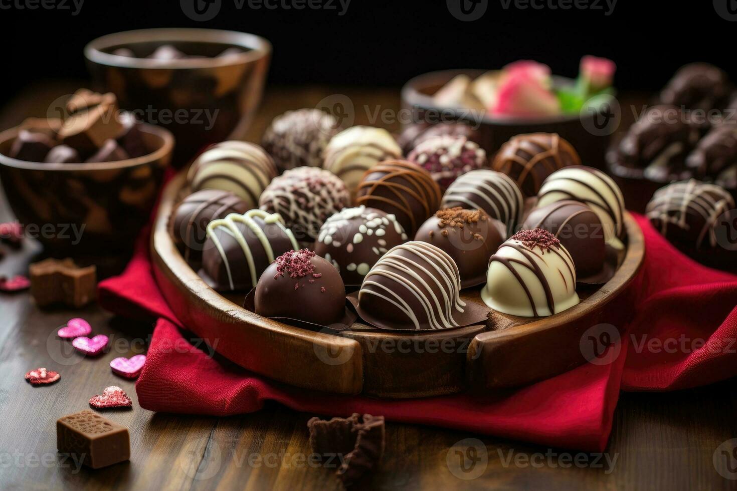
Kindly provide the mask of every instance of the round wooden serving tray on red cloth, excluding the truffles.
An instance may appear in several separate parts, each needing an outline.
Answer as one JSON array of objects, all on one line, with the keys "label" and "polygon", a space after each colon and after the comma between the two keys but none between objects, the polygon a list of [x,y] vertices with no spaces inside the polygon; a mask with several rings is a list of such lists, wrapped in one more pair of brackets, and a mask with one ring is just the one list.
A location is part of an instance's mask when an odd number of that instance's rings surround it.
[{"label": "round wooden serving tray on red cloth, excluding the truffles", "polygon": [[[486,325],[394,333],[354,323],[341,333],[308,331],[254,314],[243,294],[228,300],[189,267],[167,230],[186,184],[178,174],[164,189],[151,236],[153,270],[172,311],[187,328],[247,370],[305,389],[383,398],[416,398],[467,389],[514,387],[570,370],[584,361],[579,341],[609,320],[607,304],[635,277],[643,261],[640,227],[625,216],[627,249],[614,277],[581,303],[545,318],[489,310]],[[480,288],[461,296],[481,303]]]}]

